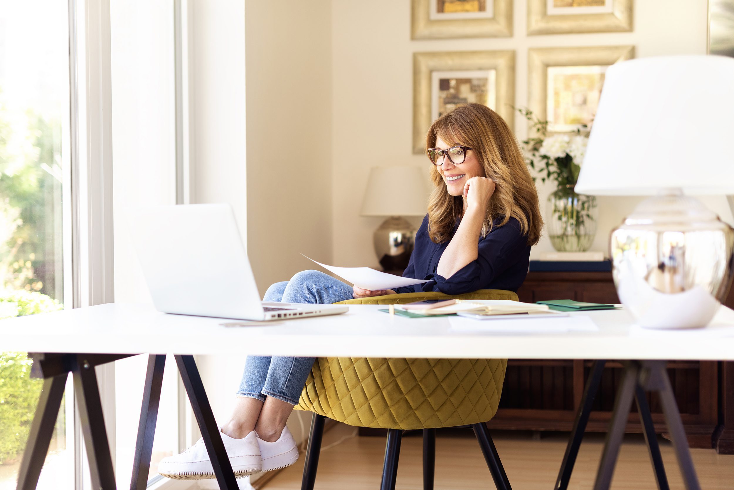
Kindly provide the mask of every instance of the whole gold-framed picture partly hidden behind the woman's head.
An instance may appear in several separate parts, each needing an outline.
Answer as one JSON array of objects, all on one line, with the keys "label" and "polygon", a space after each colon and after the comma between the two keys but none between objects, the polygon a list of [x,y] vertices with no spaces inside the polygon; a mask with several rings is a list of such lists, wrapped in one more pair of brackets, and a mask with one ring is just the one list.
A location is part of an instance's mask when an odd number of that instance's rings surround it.
[{"label": "whole gold-framed picture partly hidden behind the woman's head", "polygon": [[484,104],[513,127],[515,51],[413,54],[413,153],[425,151],[426,132],[445,112]]}]

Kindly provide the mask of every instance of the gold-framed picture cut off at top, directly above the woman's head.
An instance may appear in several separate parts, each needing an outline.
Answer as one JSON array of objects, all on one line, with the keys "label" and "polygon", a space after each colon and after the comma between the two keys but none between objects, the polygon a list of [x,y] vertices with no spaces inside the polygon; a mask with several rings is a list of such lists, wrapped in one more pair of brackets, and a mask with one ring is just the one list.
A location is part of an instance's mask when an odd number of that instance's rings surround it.
[{"label": "gold-framed picture cut off at top, directly above the woman's head", "polygon": [[512,0],[413,0],[413,39],[511,36]]}]

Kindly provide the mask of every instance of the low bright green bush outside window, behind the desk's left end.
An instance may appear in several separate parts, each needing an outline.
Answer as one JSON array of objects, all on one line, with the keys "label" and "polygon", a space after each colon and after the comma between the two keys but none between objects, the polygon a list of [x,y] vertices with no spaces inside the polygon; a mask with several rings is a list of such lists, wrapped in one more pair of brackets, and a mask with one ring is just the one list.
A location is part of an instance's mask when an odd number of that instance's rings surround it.
[{"label": "low bright green bush outside window, behind the desk's left end", "polygon": [[[56,311],[64,306],[40,292],[0,292],[0,318]],[[43,380],[31,378],[25,353],[0,352],[0,464],[23,451]]]}]

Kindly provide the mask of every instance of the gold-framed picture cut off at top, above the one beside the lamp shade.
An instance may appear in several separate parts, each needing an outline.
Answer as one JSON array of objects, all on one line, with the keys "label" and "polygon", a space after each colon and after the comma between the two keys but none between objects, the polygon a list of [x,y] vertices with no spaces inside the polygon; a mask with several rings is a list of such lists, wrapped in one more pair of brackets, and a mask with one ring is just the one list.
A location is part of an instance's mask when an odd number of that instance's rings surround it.
[{"label": "gold-framed picture cut off at top, above the one beside the lamp shade", "polygon": [[528,35],[632,30],[633,0],[528,0]]}]

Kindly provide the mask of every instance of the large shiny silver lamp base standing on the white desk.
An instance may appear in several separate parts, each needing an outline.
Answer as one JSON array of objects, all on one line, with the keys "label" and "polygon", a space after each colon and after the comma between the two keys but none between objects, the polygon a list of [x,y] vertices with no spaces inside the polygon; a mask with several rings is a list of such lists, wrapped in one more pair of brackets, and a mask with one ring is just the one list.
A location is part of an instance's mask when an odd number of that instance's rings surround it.
[{"label": "large shiny silver lamp base standing on the white desk", "polygon": [[645,328],[711,322],[732,282],[734,229],[680,189],[648,198],[611,232],[619,300]]}]

